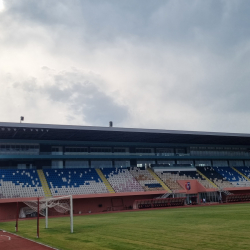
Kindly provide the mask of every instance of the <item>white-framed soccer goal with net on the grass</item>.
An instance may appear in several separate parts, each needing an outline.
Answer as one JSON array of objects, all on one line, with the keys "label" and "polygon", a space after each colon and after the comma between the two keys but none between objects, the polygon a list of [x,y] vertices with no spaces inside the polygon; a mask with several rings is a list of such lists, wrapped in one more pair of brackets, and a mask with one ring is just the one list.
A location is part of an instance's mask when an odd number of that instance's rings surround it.
[{"label": "white-framed soccer goal with net on the grass", "polygon": [[[37,213],[37,237],[39,238],[39,214],[45,217],[45,228],[48,228],[49,211],[70,215],[70,232],[73,233],[73,199],[72,195],[51,198],[37,198],[36,200],[24,201],[29,208]],[[18,221],[16,223],[16,227]]]}]

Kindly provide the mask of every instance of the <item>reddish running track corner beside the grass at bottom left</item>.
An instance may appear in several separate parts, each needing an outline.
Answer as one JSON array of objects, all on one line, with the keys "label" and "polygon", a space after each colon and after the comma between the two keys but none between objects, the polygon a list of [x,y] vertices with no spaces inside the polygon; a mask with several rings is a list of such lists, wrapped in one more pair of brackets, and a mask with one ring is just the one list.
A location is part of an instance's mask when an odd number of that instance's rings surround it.
[{"label": "reddish running track corner beside the grass at bottom left", "polygon": [[0,250],[51,250],[55,248],[47,247],[39,243],[21,238],[17,235],[0,231]]}]

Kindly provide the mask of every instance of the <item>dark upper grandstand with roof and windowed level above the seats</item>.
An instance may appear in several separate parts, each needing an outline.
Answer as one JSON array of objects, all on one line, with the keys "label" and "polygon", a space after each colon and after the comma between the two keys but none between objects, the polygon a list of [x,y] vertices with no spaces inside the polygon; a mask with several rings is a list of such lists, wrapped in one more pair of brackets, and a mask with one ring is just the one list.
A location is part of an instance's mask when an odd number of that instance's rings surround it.
[{"label": "dark upper grandstand with roof and windowed level above the seats", "polygon": [[250,166],[250,135],[0,123],[0,168]]}]

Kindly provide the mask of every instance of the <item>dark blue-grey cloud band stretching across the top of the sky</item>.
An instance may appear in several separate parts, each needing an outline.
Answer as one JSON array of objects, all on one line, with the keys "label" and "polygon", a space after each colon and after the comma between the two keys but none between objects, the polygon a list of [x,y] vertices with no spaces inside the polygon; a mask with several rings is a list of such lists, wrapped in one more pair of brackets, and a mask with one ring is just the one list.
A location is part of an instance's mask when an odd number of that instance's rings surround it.
[{"label": "dark blue-grey cloud band stretching across the top of the sky", "polygon": [[52,30],[56,26],[59,34],[63,29],[58,26],[66,27],[96,43],[136,37],[223,49],[225,41],[228,47],[250,35],[247,1],[9,0],[6,4],[9,14],[24,25],[36,23]]}]

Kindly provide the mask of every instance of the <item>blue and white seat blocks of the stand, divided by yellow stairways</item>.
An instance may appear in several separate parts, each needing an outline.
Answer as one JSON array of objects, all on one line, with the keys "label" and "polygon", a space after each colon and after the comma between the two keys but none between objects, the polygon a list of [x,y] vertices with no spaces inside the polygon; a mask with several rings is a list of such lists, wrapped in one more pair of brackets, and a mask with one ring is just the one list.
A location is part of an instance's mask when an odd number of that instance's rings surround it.
[{"label": "blue and white seat blocks of the stand, divided by yellow stairways", "polygon": [[[236,167],[250,178],[250,167]],[[202,174],[214,182],[219,188],[249,187],[250,181],[230,167],[197,167]],[[46,169],[43,170],[51,194],[81,195],[109,193],[104,182],[93,168]],[[164,190],[161,184],[141,168],[102,168],[104,176],[116,193],[143,192]],[[178,180],[195,179],[206,188],[214,186],[197,171],[156,172],[171,190],[183,189]],[[43,197],[44,191],[36,170],[32,169],[1,169],[0,198]]]}]

